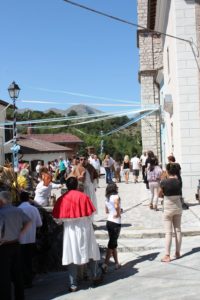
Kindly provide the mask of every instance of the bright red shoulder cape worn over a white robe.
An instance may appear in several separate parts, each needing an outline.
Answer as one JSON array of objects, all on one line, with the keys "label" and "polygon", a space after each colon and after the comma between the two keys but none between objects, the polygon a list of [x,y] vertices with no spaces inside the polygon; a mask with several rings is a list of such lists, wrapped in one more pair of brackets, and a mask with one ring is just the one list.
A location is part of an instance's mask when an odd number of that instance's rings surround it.
[{"label": "bright red shoulder cape worn over a white robe", "polygon": [[56,219],[91,216],[95,211],[90,198],[79,191],[71,190],[58,198],[52,215]]}]

